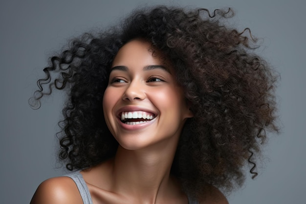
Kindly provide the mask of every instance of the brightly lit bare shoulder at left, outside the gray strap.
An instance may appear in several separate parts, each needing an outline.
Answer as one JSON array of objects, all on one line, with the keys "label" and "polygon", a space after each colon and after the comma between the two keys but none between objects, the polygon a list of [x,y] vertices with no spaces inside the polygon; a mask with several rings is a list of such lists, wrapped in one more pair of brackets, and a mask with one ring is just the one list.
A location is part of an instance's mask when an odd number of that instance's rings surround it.
[{"label": "brightly lit bare shoulder at left, outside the gray strap", "polygon": [[83,204],[83,201],[74,181],[55,177],[38,186],[30,204]]}]

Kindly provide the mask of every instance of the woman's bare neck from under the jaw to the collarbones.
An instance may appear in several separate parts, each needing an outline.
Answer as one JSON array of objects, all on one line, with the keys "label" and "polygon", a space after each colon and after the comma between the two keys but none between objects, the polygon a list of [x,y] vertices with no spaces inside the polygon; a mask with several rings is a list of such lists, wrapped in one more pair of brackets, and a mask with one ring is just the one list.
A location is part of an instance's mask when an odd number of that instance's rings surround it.
[{"label": "woman's bare neck from under the jaw to the collarbones", "polygon": [[171,141],[133,151],[119,146],[112,165],[113,190],[134,195],[141,203],[155,203],[157,195],[163,197],[173,189],[170,169],[176,145],[177,141]]}]

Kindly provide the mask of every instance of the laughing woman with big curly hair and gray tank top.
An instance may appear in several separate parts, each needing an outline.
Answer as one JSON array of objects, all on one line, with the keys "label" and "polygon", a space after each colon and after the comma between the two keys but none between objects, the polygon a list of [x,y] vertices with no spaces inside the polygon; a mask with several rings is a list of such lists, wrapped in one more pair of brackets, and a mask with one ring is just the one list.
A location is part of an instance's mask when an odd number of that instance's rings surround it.
[{"label": "laughing woman with big curly hair and gray tank top", "polygon": [[66,89],[59,157],[77,171],[44,181],[31,204],[228,203],[221,191],[246,162],[257,175],[254,153],[277,131],[276,76],[252,36],[219,23],[231,15],[137,10],[50,58],[31,104],[44,84]]}]

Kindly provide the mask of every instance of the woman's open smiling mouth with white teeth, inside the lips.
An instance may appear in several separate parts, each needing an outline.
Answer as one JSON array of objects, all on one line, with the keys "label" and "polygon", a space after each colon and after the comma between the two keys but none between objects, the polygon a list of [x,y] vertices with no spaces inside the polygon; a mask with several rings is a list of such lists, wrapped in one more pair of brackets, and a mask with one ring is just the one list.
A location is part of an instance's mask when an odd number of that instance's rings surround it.
[{"label": "woman's open smiling mouth with white teeth, inside the lips", "polygon": [[134,112],[122,112],[121,113],[121,122],[127,125],[138,125],[148,121],[151,121],[155,118],[155,114],[143,112],[143,111],[134,111]]}]

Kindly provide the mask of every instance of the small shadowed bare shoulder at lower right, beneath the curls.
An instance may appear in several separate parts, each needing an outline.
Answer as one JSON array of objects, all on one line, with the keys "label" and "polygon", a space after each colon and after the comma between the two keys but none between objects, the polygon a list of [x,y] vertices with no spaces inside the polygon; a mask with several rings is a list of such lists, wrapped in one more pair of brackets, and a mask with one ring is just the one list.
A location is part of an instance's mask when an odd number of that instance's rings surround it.
[{"label": "small shadowed bare shoulder at lower right, beneath the curls", "polygon": [[206,193],[199,199],[199,204],[229,204],[226,197],[218,188],[208,186]]}]

